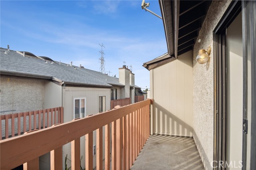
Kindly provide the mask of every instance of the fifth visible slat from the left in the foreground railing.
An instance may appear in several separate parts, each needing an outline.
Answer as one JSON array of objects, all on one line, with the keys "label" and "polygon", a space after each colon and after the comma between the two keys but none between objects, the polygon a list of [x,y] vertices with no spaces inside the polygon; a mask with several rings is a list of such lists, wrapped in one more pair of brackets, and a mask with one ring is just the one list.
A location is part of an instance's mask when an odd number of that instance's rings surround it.
[{"label": "fifth visible slat from the left in the foreground railing", "polygon": [[102,170],[102,161],[103,161],[103,145],[102,145],[102,127],[96,130],[96,168],[97,170]]}]

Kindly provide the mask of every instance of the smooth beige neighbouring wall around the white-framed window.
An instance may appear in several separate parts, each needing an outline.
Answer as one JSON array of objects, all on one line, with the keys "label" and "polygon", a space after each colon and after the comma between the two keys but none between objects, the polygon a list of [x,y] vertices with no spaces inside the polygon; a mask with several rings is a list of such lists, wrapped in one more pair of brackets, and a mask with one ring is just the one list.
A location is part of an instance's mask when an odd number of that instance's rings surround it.
[{"label": "smooth beige neighbouring wall around the white-framed window", "polygon": [[[63,107],[64,107],[64,123],[68,121],[72,121],[74,119],[74,111],[73,111],[73,104],[74,104],[74,98],[78,97],[86,97],[86,115],[94,115],[99,112],[99,103],[98,99],[99,96],[106,96],[106,110],[110,109],[110,89],[107,88],[88,88],[88,87],[65,87],[63,89]],[[104,128],[103,128],[104,130]],[[93,144],[96,144],[96,131],[93,133]],[[103,139],[104,139],[104,131],[103,131]],[[103,142],[104,147],[104,142]],[[83,159],[81,161],[82,168],[85,167],[85,137],[82,136],[80,138],[80,153],[81,156],[83,156]],[[68,154],[68,158],[71,160],[71,143],[68,143],[63,146],[63,167],[64,167],[64,160],[65,156]],[[103,155],[104,155],[104,149],[103,149]],[[104,156],[103,156],[104,157]],[[94,165],[96,166],[96,155],[93,156]],[[68,167],[71,166],[70,161],[67,162]]]}]

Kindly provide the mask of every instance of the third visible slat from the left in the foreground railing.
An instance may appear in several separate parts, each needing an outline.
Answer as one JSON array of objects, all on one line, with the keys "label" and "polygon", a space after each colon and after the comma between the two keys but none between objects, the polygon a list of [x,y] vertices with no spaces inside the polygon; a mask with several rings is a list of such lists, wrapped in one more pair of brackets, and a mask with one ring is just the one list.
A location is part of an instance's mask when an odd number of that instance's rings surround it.
[{"label": "third visible slat from the left in the foreground railing", "polygon": [[71,142],[71,170],[80,170],[80,138]]}]

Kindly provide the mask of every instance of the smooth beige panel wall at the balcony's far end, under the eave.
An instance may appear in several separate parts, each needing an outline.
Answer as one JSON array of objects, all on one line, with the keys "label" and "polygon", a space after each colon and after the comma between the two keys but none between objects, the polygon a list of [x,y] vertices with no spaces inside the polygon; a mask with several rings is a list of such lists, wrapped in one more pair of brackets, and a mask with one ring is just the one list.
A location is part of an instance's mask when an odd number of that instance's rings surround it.
[{"label": "smooth beige panel wall at the balcony's far end, under the eave", "polygon": [[192,51],[150,70],[153,133],[192,136]]}]

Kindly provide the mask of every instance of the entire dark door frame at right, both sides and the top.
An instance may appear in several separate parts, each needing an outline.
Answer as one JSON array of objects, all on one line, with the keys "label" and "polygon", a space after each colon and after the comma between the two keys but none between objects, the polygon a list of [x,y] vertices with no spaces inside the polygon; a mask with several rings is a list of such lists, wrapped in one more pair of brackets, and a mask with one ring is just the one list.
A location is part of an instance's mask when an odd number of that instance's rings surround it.
[{"label": "entire dark door frame at right, both sides and the top", "polygon": [[[246,169],[246,160],[250,159],[250,170],[256,169],[256,1],[234,0],[222,16],[213,32],[214,47],[214,154],[218,162],[226,160],[226,28],[242,11],[242,36],[243,36],[243,119],[247,117],[247,78],[251,78],[251,125],[250,132],[250,158],[247,155],[247,134],[243,133],[242,169]],[[249,36],[248,36],[249,35]],[[250,42],[250,51],[247,51],[247,42]],[[251,74],[247,72],[247,53],[251,54]],[[242,121],[242,120],[241,120]],[[243,123],[244,123],[243,121]],[[244,125],[244,124],[243,124]],[[244,127],[244,126],[243,126]],[[244,129],[244,128],[243,128]],[[214,170],[225,169],[223,167]]]}]

